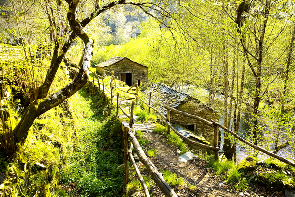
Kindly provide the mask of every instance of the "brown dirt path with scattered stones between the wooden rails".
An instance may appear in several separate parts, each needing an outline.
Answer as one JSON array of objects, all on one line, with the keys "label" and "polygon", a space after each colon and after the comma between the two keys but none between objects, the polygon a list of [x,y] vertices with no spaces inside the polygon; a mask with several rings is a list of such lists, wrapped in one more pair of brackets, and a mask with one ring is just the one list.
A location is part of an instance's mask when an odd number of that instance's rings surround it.
[{"label": "brown dirt path with scattered stones between the wooden rails", "polygon": [[[236,197],[230,193],[227,185],[214,176],[214,173],[206,169],[206,162],[195,158],[186,163],[178,162],[180,154],[177,149],[166,143],[166,138],[155,133],[145,133],[145,138],[150,142],[149,148],[157,150],[157,156],[150,158],[153,164],[160,170],[168,170],[177,176],[184,178],[188,184],[195,185],[193,189],[187,186],[173,187],[179,197]],[[155,193],[155,191],[153,191]],[[158,194],[161,196],[162,194]]]}]

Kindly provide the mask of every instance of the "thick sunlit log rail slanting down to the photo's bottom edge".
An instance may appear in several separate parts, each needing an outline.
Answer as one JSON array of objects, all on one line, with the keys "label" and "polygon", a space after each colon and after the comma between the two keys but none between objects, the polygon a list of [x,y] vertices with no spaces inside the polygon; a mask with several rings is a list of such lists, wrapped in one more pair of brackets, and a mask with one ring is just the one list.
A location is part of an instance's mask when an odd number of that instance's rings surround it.
[{"label": "thick sunlit log rail slanting down to the photo's bottom edge", "polygon": [[137,139],[135,138],[135,136],[133,135],[131,131],[129,132],[129,139],[132,142],[135,152],[138,155],[140,161],[147,167],[151,178],[155,181],[155,183],[160,188],[160,190],[164,193],[164,195],[166,197],[177,197],[173,189],[164,180],[163,174],[158,172],[154,164],[147,158],[146,154],[140,147]]}]

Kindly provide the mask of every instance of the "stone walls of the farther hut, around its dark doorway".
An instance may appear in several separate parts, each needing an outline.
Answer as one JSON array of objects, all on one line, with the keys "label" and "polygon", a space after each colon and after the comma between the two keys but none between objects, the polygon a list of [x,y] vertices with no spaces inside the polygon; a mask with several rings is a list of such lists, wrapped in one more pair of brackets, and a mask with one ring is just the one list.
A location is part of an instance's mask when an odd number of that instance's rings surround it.
[{"label": "stone walls of the farther hut, around its dark doorway", "polygon": [[[148,67],[130,61],[127,58],[104,68],[96,66],[96,71],[99,74],[103,75],[103,70],[114,70],[114,76],[118,80],[121,80],[121,73],[133,73],[133,84],[137,83],[138,80],[140,80],[140,83],[148,83]],[[110,73],[106,72],[106,75],[110,75]]]}]

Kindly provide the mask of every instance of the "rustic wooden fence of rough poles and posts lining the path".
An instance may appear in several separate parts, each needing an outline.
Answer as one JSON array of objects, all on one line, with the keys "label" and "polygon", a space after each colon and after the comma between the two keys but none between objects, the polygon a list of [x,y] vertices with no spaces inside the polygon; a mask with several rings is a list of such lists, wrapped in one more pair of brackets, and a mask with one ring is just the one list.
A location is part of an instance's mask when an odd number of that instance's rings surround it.
[{"label": "rustic wooden fence of rough poles and posts lining the path", "polygon": [[[111,104],[113,104],[113,88],[118,88],[120,91],[128,93],[128,94],[132,94],[136,96],[136,102],[138,102],[138,100],[142,101],[144,104],[146,104],[149,107],[149,112],[150,112],[150,108],[153,109],[156,113],[158,113],[166,122],[167,127],[168,127],[168,131],[170,132],[170,129],[172,131],[174,131],[179,137],[181,137],[184,141],[198,145],[202,148],[206,148],[208,150],[212,150],[214,151],[214,155],[215,155],[215,160],[219,160],[219,147],[218,147],[218,137],[219,137],[219,129],[218,127],[222,128],[225,132],[233,135],[235,138],[239,139],[241,142],[248,144],[249,146],[251,146],[252,148],[254,148],[255,150],[261,151],[263,153],[266,153],[267,155],[274,157],[286,164],[289,164],[293,167],[295,167],[295,164],[277,154],[271,153],[259,146],[256,146],[254,144],[252,144],[251,142],[248,142],[247,140],[243,139],[242,137],[238,136],[236,133],[234,133],[233,131],[229,130],[228,128],[224,127],[223,125],[221,125],[220,123],[218,123],[218,120],[205,120],[199,116],[195,116],[192,114],[188,114],[186,112],[183,111],[179,111],[173,107],[169,107],[169,106],[165,106],[165,108],[167,109],[167,117],[164,116],[163,114],[161,114],[157,109],[155,109],[153,106],[151,106],[150,104],[150,98],[151,98],[151,93],[149,94],[149,103],[145,102],[144,100],[140,99],[138,97],[138,85],[134,84],[132,87],[130,87],[127,91],[121,90],[118,86],[116,86],[116,80],[115,77],[113,76],[114,72],[111,72],[111,78],[110,78],[110,91],[104,86],[104,76],[100,76],[97,75],[95,72],[93,73],[93,84],[92,84],[92,91],[93,91],[93,87],[94,87],[94,80],[95,80],[95,76],[97,76],[97,81],[98,81],[98,85],[99,85],[99,91],[100,91],[100,81],[99,81],[99,77],[102,79],[102,93],[103,93],[103,98],[105,99],[105,90],[108,91],[111,94],[111,99],[110,102]],[[130,93],[128,91],[131,90],[131,88],[136,87],[136,93]],[[126,185],[128,182],[128,174],[129,174],[129,166],[128,166],[128,156],[136,170],[136,174],[138,175],[138,179],[142,185],[142,187],[144,188],[144,192],[145,192],[145,196],[149,197],[149,193],[148,193],[148,188],[145,184],[145,181],[143,180],[138,167],[133,159],[132,156],[132,149],[134,146],[135,152],[136,154],[139,156],[140,161],[147,167],[149,174],[151,175],[152,179],[155,181],[155,183],[157,184],[157,186],[161,189],[161,191],[164,193],[164,195],[166,197],[177,197],[176,193],[173,191],[173,189],[167,184],[167,182],[163,179],[163,175],[161,173],[159,173],[156,169],[156,167],[154,166],[154,164],[152,164],[152,162],[148,159],[148,157],[145,155],[145,153],[143,152],[142,148],[140,147],[136,137],[134,136],[134,120],[133,120],[133,108],[134,108],[134,102],[132,101],[131,103],[131,112],[130,115],[127,114],[124,109],[120,106],[119,104],[119,93],[117,93],[117,114],[118,114],[118,110],[121,109],[121,111],[123,112],[123,114],[125,114],[129,119],[130,119],[130,123],[129,123],[129,127],[124,127],[123,129],[123,142],[124,142],[124,157],[125,157],[125,182],[124,182],[124,194],[126,193]],[[170,124],[170,118],[169,118],[169,111],[173,111],[177,114],[181,114],[183,116],[189,117],[189,118],[193,118],[196,119],[198,121],[201,121],[211,127],[214,128],[214,141],[213,141],[213,146],[208,146],[207,144],[203,144],[200,142],[196,142],[193,141],[187,137],[185,137],[184,135],[182,135],[181,133],[179,133],[171,124]],[[131,141],[131,146],[130,149],[128,149],[128,138]]]}]

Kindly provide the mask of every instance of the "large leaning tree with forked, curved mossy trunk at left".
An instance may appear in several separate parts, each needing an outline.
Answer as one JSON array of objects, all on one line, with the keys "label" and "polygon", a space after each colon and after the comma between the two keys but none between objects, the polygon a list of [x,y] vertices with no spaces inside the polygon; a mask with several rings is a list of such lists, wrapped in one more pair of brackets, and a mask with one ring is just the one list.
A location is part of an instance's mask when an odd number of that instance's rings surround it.
[{"label": "large leaning tree with forked, curved mossy trunk at left", "polygon": [[[99,0],[97,0],[93,5],[93,11],[88,16],[82,19],[78,19],[77,9],[79,8],[79,6],[81,6],[81,1],[66,0],[66,2],[68,4],[68,8],[65,8],[67,10],[67,20],[69,25],[68,28],[70,28],[71,30],[69,31],[67,30],[67,28],[63,28],[67,26],[62,25],[61,23],[54,23],[54,14],[52,14],[51,17],[48,17],[49,21],[51,21],[50,24],[55,31],[55,33],[51,34],[51,39],[55,40],[53,56],[46,74],[46,78],[43,84],[37,89],[37,97],[24,110],[21,120],[13,129],[13,135],[15,136],[16,143],[24,143],[26,137],[28,136],[29,128],[38,116],[52,109],[53,107],[58,106],[65,99],[75,94],[87,83],[94,41],[89,37],[88,33],[86,33],[85,27],[95,17],[105,12],[106,10],[114,8],[118,5],[132,5],[137,6],[148,15],[157,18],[159,21],[163,16],[166,16],[165,18],[171,18],[169,11],[167,11],[165,7],[162,6],[162,4],[160,3],[156,4],[151,2],[127,2],[126,0],[118,0],[110,1],[103,6],[100,6]],[[61,1],[57,2],[57,7],[59,8],[59,6],[62,6]],[[158,14],[158,17],[151,14],[151,11]],[[60,14],[62,13],[59,12],[59,15]],[[71,33],[66,38],[67,32]],[[57,70],[76,37],[79,37],[85,44],[83,55],[81,56],[79,63],[79,73],[65,87],[60,89],[58,92],[47,96],[53,80],[56,76]]]}]

